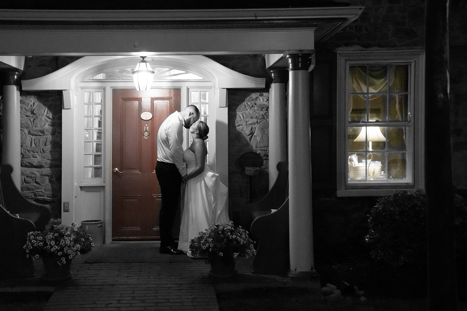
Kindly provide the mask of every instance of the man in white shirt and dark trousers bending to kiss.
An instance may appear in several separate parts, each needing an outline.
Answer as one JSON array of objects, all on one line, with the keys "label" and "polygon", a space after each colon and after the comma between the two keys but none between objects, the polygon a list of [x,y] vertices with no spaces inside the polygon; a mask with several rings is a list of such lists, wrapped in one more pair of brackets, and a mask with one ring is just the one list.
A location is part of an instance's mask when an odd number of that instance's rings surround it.
[{"label": "man in white shirt and dark trousers bending to kiss", "polygon": [[183,127],[189,129],[198,121],[199,110],[194,105],[183,111],[175,111],[167,117],[157,133],[156,176],[161,187],[161,210],[159,213],[159,231],[161,247],[159,253],[181,255],[172,235],[172,228],[177,213],[182,176],[186,175],[183,161]]}]

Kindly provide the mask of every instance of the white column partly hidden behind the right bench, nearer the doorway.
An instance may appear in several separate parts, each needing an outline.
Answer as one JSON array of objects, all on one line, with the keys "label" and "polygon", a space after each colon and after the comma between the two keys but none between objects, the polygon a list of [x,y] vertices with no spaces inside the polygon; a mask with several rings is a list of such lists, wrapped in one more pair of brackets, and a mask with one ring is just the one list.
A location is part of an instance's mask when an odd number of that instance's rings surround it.
[{"label": "white column partly hidden behind the right bench, nearer the doorway", "polygon": [[277,163],[287,161],[287,97],[285,69],[269,70],[269,189],[277,179]]}]

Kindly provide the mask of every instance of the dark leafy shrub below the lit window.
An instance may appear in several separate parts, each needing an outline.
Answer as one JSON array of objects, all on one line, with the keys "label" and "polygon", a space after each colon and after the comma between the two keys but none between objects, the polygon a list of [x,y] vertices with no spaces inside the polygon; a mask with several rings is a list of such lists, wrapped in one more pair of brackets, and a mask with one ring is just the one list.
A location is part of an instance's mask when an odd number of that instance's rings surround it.
[{"label": "dark leafy shrub below the lit window", "polygon": [[370,211],[366,241],[372,258],[399,267],[426,263],[425,194],[396,191],[378,199]]}]

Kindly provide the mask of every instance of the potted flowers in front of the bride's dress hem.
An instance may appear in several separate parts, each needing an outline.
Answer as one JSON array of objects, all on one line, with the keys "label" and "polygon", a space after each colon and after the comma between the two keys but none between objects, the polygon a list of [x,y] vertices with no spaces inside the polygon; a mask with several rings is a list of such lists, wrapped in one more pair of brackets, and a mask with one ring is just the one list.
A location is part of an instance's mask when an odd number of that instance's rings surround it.
[{"label": "potted flowers in front of the bride's dress hem", "polygon": [[255,242],[248,231],[235,226],[233,221],[213,225],[192,239],[189,246],[193,257],[204,258],[211,264],[211,275],[231,276],[235,274],[235,260],[238,257],[256,255]]}]

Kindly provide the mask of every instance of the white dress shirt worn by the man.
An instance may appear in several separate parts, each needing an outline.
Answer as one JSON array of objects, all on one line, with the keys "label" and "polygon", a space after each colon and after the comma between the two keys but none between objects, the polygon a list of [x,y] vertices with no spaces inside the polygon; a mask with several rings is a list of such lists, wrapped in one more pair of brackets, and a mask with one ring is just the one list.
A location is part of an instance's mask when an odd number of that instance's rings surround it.
[{"label": "white dress shirt worn by the man", "polygon": [[182,115],[175,111],[157,132],[157,161],[175,164],[182,176],[186,175],[182,147],[184,123]]}]

